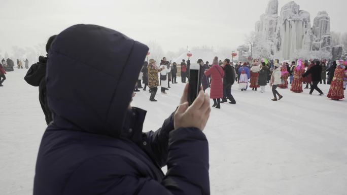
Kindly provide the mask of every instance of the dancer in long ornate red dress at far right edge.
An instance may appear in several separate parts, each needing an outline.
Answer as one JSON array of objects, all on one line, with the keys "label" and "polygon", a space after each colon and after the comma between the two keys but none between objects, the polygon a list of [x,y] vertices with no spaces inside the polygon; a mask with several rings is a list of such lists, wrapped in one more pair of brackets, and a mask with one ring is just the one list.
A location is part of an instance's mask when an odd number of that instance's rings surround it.
[{"label": "dancer in long ornate red dress at far right edge", "polygon": [[330,84],[329,93],[327,95],[328,98],[333,100],[340,100],[344,98],[343,94],[343,77],[344,77],[344,68],[345,66],[342,64],[342,61],[336,61],[336,69],[334,73],[334,77]]}]

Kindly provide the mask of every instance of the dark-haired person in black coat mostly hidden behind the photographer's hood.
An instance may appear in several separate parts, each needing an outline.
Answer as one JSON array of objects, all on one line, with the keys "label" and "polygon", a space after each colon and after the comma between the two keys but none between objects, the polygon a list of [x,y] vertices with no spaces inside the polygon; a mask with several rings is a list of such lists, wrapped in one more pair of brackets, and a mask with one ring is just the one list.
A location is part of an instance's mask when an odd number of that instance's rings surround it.
[{"label": "dark-haired person in black coat mostly hidden behind the photographer's hood", "polygon": [[[46,52],[48,53],[49,48],[57,35],[51,36],[46,44]],[[47,125],[52,121],[52,113],[49,109],[47,102],[47,90],[46,90],[46,67],[47,57],[40,56],[39,62],[32,64],[26,72],[24,80],[31,86],[39,87],[39,101],[41,104],[42,111],[45,114],[45,120]]]}]

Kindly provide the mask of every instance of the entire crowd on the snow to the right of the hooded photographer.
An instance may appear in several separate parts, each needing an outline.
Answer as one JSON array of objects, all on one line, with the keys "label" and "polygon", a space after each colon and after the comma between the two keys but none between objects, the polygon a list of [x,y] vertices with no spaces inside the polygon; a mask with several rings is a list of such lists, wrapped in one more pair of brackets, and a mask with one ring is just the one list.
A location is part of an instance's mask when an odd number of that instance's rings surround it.
[{"label": "entire crowd on the snow to the right of the hooded photographer", "polygon": [[[199,59],[197,63],[200,65],[200,81],[203,91],[211,88],[210,98],[213,99],[213,107],[220,108],[221,103],[227,102],[235,104],[236,101],[231,95],[231,87],[234,82],[237,82],[238,89],[247,91],[252,88],[260,92],[265,92],[265,86],[268,84],[272,88],[272,101],[281,100],[283,96],[277,91],[277,88],[288,89],[295,93],[301,93],[304,89],[310,89],[309,94],[312,95],[316,90],[320,96],[324,93],[318,87],[319,84],[330,85],[330,90],[327,97],[333,100],[343,99],[343,90],[346,88],[347,81],[347,66],[345,62],[327,61],[327,60],[296,60],[289,64],[288,62],[280,63],[279,60],[253,60],[250,62],[237,62],[234,66],[230,59],[224,61],[218,60],[215,57],[213,63],[208,61],[205,63]],[[328,64],[328,66],[327,66]],[[181,83],[186,83],[189,79],[190,60],[183,59],[181,62]],[[164,57],[160,66],[156,65],[154,59],[150,59],[149,63],[145,62],[142,72],[138,78],[137,85],[134,91],[149,86],[151,93],[150,101],[155,99],[158,87],[161,87],[161,93],[167,94],[166,91],[170,88],[170,82],[177,84],[177,63],[167,61]],[[158,74],[160,77],[158,77]],[[290,85],[290,87],[289,87]],[[305,85],[305,87],[303,87]]]}]

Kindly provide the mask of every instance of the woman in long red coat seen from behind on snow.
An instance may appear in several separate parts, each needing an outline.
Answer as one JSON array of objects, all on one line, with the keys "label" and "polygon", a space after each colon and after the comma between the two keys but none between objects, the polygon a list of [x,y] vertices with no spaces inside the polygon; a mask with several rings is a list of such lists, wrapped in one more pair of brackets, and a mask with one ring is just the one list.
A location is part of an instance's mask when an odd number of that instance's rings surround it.
[{"label": "woman in long red coat seen from behind on snow", "polygon": [[205,71],[206,76],[211,75],[211,92],[210,98],[213,99],[213,107],[221,108],[221,99],[223,98],[223,77],[224,71],[218,65],[218,57],[213,60],[213,65],[210,69]]}]

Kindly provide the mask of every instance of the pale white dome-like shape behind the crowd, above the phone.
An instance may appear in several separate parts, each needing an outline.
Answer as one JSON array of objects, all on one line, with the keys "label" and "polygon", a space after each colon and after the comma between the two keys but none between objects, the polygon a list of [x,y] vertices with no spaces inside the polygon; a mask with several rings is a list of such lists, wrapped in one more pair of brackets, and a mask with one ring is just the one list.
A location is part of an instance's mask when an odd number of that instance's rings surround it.
[{"label": "pale white dome-like shape behind the crowd, above the phone", "polygon": [[[188,60],[187,53],[188,52],[184,52],[177,58],[174,58],[172,62],[181,64],[183,59],[187,61]],[[211,49],[195,49],[195,50],[191,50],[190,53],[192,54],[192,57],[189,58],[190,63],[197,63],[198,59],[202,59],[203,62],[209,61],[211,64],[213,62],[213,59],[216,56],[218,57],[218,60],[222,60],[222,61],[226,58],[223,54],[214,52]]]}]

